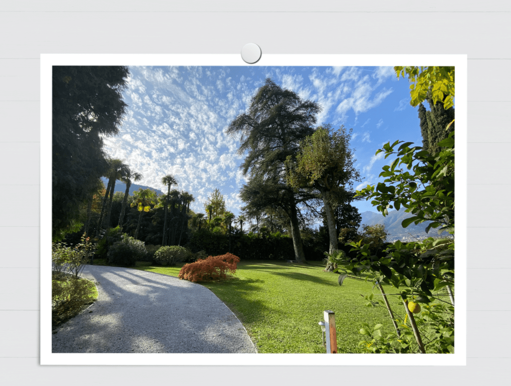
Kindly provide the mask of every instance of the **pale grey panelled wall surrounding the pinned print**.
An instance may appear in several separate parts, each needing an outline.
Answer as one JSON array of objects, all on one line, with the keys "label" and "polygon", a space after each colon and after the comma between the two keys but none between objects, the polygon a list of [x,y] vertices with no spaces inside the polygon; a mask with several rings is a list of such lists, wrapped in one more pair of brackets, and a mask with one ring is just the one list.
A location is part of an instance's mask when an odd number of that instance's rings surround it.
[{"label": "pale grey panelled wall surrounding the pinned print", "polygon": [[[509,2],[460,0],[388,4],[377,0],[24,0],[2,4],[0,162],[11,181],[18,184],[4,185],[0,190],[0,280],[8,287],[0,306],[3,380],[7,384],[33,385],[41,379],[65,377],[77,385],[91,381],[141,384],[147,382],[149,370],[38,365],[40,192],[38,186],[25,184],[29,184],[29,179],[37,180],[30,184],[39,184],[39,55],[238,53],[245,43],[255,42],[263,55],[468,54],[468,183],[474,184],[468,186],[468,361],[467,367],[435,367],[428,371],[434,371],[434,378],[446,383],[504,384],[505,370],[510,365],[506,331],[511,318],[511,305],[505,301],[509,296],[506,278],[511,269],[505,244],[511,231],[511,181],[506,160],[506,148],[511,142],[511,77],[507,76],[511,63],[511,46],[507,42],[511,36],[510,11]],[[432,37],[432,43],[425,51],[422,43],[427,43],[428,37]],[[17,158],[20,152],[25,152],[26,160]],[[12,197],[23,205],[9,205]],[[247,379],[247,372],[254,372],[248,366],[207,368],[210,379],[222,379],[224,383],[226,370],[230,373],[228,378],[237,383]],[[322,371],[306,367],[256,370],[258,376],[249,377],[249,384],[252,380],[275,383],[278,375],[285,375],[288,383],[311,384],[317,382]],[[359,381],[361,370],[353,367],[335,371],[342,371],[344,382],[354,382]],[[382,372],[388,368],[363,370]],[[149,371],[152,379],[168,379],[167,368]],[[188,380],[188,374],[184,374],[190,368],[171,371],[174,382]],[[77,376],[84,372],[94,373],[94,377]],[[395,379],[380,383],[393,384]]]}]

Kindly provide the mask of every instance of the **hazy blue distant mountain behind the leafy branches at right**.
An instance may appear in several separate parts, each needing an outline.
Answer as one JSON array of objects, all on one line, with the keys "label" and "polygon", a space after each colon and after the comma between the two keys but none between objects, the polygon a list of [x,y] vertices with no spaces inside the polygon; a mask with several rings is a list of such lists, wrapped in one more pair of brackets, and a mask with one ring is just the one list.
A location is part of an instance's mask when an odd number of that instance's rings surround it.
[{"label": "hazy blue distant mountain behind the leafy branches at right", "polygon": [[[415,238],[422,240],[427,237],[438,236],[437,230],[434,228],[431,228],[429,233],[425,232],[426,227],[431,221],[426,221],[417,225],[411,223],[406,228],[403,228],[401,222],[413,216],[412,213],[406,213],[404,208],[401,208],[399,211],[389,211],[388,215],[385,217],[383,217],[381,213],[369,211],[361,213],[361,216],[362,220],[360,221],[359,231],[362,230],[362,225],[384,224],[387,232],[390,234],[387,237],[387,241],[413,241]],[[449,234],[443,232],[441,236],[449,236]]]}]

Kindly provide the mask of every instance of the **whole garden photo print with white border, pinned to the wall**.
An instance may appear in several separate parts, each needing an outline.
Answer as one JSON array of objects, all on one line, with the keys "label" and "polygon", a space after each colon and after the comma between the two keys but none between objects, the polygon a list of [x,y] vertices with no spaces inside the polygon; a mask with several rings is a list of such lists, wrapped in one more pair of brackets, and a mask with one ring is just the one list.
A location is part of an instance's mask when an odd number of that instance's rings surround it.
[{"label": "whole garden photo print with white border, pinned to the wall", "polygon": [[[41,360],[251,354],[236,360],[253,365],[273,360],[261,354],[446,354],[429,355],[440,364],[459,354],[459,58],[400,66],[417,60],[48,57],[42,170],[52,205],[41,211],[52,222],[41,257],[51,250],[51,281],[41,261]],[[396,358],[363,356],[382,357]]]}]

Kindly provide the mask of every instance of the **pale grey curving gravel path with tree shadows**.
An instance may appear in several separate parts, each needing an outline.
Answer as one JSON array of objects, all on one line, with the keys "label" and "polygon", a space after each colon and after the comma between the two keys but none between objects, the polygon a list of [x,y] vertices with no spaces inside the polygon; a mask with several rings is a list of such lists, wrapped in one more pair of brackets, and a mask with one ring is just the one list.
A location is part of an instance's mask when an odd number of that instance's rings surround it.
[{"label": "pale grey curving gravel path with tree shadows", "polygon": [[206,287],[151,272],[87,265],[96,303],[57,328],[54,353],[255,353],[234,313]]}]

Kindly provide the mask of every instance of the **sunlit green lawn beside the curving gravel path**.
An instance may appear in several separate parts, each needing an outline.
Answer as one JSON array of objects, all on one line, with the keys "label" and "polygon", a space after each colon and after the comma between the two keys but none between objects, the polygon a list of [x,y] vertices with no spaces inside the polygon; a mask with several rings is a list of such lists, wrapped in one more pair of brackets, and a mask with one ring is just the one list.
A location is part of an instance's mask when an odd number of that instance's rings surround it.
[{"label": "sunlit green lawn beside the curving gravel path", "polygon": [[[177,277],[183,264],[176,267],[152,266],[137,262],[136,269]],[[393,331],[388,311],[366,307],[366,296],[374,282],[346,278],[342,286],[338,275],[323,272],[324,264],[289,264],[282,261],[242,261],[236,275],[225,282],[200,283],[213,291],[243,323],[260,353],[324,353],[318,322],[323,311],[335,312],[339,353],[360,353],[358,347],[362,323],[382,323],[382,333]],[[387,294],[392,287],[384,286]],[[389,296],[390,306],[403,313],[403,304]]]}]

